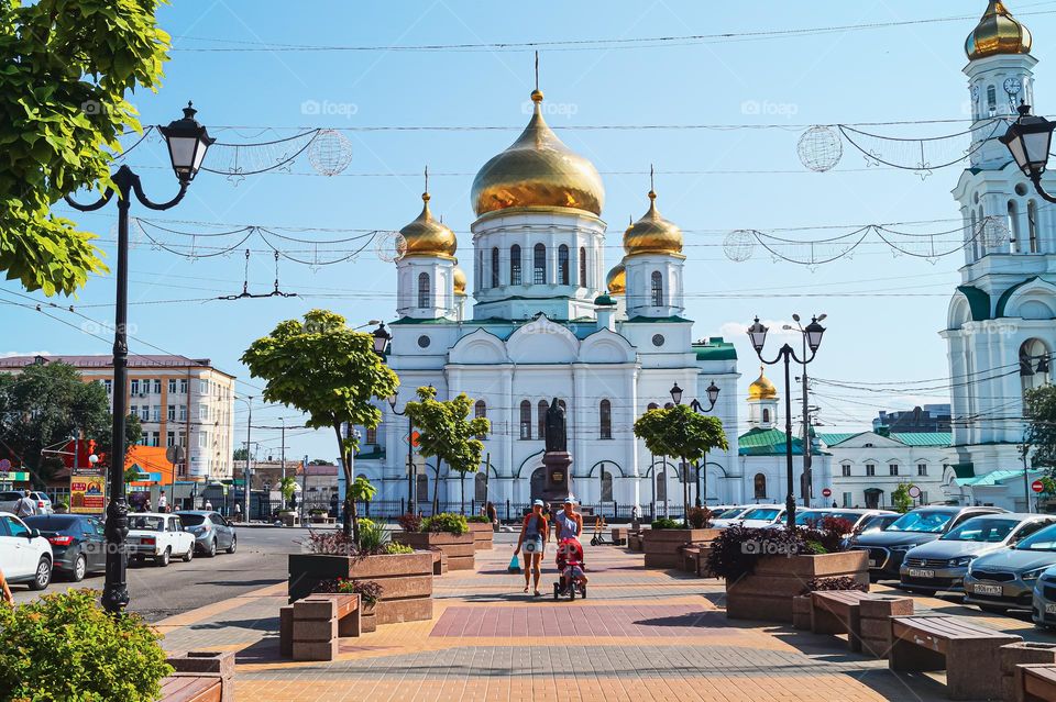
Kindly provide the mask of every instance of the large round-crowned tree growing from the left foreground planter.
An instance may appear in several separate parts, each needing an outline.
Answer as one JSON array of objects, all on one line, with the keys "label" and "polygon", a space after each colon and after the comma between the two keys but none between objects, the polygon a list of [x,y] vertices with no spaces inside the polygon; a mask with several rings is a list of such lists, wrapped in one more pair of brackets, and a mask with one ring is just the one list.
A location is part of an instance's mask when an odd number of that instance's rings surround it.
[{"label": "large round-crowned tree growing from the left foreground planter", "polygon": [[344,534],[359,543],[359,515],[352,499],[354,434],[345,424],[376,428],[382,412],[374,400],[396,392],[399,379],[374,353],[371,334],[350,330],[340,314],[311,310],[304,322],[286,320],[258,338],[242,355],[254,378],[266,381],[264,401],[294,406],[308,414],[305,426],[331,428],[344,471]]}]

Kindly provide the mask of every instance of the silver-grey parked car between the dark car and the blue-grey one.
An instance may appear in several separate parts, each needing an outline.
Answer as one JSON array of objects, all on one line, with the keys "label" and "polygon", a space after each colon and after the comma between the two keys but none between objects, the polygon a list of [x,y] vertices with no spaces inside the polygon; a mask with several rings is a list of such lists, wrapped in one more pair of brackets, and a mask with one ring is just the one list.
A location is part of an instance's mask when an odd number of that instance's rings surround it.
[{"label": "silver-grey parked car between the dark car and the blue-grey one", "polygon": [[936,541],[906,551],[900,587],[909,592],[963,591],[971,561],[1052,524],[1056,524],[1056,516],[1043,514],[974,516]]}]

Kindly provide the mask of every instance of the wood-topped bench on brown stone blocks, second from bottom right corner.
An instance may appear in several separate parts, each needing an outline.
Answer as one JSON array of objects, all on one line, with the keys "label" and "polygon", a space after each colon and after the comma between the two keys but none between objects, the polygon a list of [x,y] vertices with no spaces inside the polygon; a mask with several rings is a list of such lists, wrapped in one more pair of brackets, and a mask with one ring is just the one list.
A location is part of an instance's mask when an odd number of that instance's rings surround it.
[{"label": "wood-topped bench on brown stone blocks, second from bottom right corner", "polygon": [[998,699],[1001,655],[1021,636],[955,616],[892,616],[891,670],[946,670],[950,700]]}]

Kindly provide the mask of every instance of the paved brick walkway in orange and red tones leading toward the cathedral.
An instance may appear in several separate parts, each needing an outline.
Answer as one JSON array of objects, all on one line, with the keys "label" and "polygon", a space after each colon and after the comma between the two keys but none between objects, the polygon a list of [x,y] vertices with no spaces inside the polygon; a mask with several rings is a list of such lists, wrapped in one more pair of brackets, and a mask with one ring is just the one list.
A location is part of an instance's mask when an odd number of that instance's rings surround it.
[{"label": "paved brick walkway in orange and red tones leading toward the cathedral", "polygon": [[[158,627],[173,651],[239,651],[238,695],[253,701],[945,699],[941,678],[894,676],[886,661],[849,654],[833,637],[727,621],[717,581],[645,570],[640,554],[587,547],[590,599],[554,602],[521,592],[524,577],[506,572],[510,550],[496,543],[494,550],[477,551],[475,572],[437,578],[432,621],[345,639],[333,662],[278,657],[285,586]],[[549,553],[544,565],[540,590],[549,592]],[[923,602],[971,613],[945,601]],[[983,619],[1024,636],[1032,632],[1018,620]]]}]

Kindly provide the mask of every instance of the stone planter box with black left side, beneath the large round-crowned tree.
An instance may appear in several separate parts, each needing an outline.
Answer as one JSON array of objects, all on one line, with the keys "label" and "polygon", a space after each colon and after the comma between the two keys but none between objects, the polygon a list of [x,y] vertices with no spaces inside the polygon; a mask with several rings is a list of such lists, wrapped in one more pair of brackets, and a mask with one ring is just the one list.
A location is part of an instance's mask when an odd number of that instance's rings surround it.
[{"label": "stone planter box with black left side, beneath the large round-crowned tree", "polygon": [[382,587],[374,605],[376,624],[432,619],[432,554],[393,554],[350,558],[323,554],[289,555],[289,601],[311,593],[323,580],[373,580]]}]

